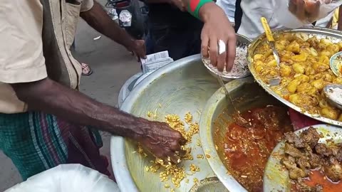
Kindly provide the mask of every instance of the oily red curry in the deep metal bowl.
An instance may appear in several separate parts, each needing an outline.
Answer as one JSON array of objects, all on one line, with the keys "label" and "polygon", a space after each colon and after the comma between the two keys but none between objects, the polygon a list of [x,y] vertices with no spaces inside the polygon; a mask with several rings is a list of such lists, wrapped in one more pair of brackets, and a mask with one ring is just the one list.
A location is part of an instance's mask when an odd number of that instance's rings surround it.
[{"label": "oily red curry in the deep metal bowl", "polygon": [[262,191],[266,162],[285,132],[293,131],[287,109],[263,107],[241,114],[252,127],[231,122],[223,143],[224,164],[230,174],[247,189]]}]

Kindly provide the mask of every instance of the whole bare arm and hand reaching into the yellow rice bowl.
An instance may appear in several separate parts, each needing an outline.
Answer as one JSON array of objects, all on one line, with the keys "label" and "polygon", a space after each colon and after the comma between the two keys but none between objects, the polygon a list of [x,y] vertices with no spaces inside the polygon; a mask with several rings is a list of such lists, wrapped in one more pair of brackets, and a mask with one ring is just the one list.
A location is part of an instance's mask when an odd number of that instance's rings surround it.
[{"label": "whole bare arm and hand reaching into the yellow rice bowl", "polygon": [[[149,122],[90,99],[48,78],[11,84],[29,110],[54,114],[75,124],[93,126],[111,134],[141,142],[155,156],[177,163],[185,139],[166,123]],[[166,141],[166,142],[162,142]]]}]

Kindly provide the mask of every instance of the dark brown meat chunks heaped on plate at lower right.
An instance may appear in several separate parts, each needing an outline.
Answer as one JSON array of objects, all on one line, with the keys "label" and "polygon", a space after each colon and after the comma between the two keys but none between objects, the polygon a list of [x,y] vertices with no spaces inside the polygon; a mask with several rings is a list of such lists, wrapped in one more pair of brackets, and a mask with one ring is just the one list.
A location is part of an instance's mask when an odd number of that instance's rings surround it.
[{"label": "dark brown meat chunks heaped on plate at lower right", "polygon": [[342,143],[318,143],[321,135],[310,127],[299,136],[289,132],[285,134],[284,157],[281,159],[289,171],[289,177],[295,181],[299,191],[322,191],[321,186],[309,187],[301,182],[309,176],[312,169],[323,172],[331,181],[342,180]]}]

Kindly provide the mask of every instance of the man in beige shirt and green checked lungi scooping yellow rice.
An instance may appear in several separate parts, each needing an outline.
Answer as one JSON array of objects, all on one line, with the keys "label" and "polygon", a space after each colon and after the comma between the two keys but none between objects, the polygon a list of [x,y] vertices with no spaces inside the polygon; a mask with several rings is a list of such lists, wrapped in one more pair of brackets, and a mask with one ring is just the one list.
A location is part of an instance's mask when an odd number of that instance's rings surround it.
[{"label": "man in beige shirt and green checked lungi scooping yellow rice", "polygon": [[71,44],[80,16],[141,58],[144,41],[129,36],[93,0],[17,4],[0,4],[0,149],[24,180],[58,164],[82,164],[108,175],[99,130],[134,139],[155,156],[177,161],[185,144],[180,132],[78,92],[81,65]]}]

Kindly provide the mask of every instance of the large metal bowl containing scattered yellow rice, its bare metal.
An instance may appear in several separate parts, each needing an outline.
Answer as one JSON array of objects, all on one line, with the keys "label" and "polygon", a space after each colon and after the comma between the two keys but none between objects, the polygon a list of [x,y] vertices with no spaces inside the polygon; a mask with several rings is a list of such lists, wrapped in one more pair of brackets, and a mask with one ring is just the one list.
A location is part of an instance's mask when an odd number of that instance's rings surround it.
[{"label": "large metal bowl containing scattered yellow rice, its bare metal", "polygon": [[[156,111],[159,121],[164,121],[166,114],[179,114],[183,119],[186,112],[191,112],[194,121],[199,122],[199,112],[203,110],[209,97],[218,88],[217,80],[204,68],[199,55],[194,55],[170,63],[148,75],[130,92],[121,110],[147,119],[149,119],[147,111]],[[199,166],[200,171],[187,176],[189,183],[182,181],[180,188],[175,188],[175,191],[201,191],[201,186],[194,186],[193,178],[197,178],[199,183],[204,185],[212,182],[209,178],[215,176],[206,159],[196,158],[197,154],[203,154],[202,148],[196,145],[197,139],[199,139],[199,134],[195,134],[192,138],[194,160],[185,161],[185,167],[188,169],[190,164],[195,164]],[[135,151],[137,151],[137,144],[134,141],[112,137],[110,156],[120,190],[124,192],[170,191],[170,188],[165,188],[165,183],[160,181],[159,173],[145,171],[145,166],[150,165],[152,159],[143,159]],[[213,184],[219,185],[219,183]],[[172,184],[170,186],[172,187]],[[207,187],[206,185],[204,188]]]}]

